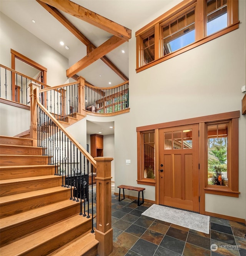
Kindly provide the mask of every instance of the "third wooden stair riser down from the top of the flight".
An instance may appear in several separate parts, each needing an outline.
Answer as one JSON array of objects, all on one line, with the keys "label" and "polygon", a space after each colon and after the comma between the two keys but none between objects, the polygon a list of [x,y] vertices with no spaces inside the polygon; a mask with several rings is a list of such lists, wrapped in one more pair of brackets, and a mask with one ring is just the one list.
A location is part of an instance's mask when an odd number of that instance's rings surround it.
[{"label": "third wooden stair riser down from the top of the flight", "polygon": [[0,166],[48,164],[47,156],[1,156]]}]

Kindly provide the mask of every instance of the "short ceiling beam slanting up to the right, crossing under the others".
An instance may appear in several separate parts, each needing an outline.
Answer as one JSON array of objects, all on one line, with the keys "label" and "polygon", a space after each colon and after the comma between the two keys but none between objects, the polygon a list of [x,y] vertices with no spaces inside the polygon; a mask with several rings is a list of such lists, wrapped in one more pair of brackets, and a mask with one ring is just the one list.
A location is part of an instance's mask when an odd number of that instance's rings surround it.
[{"label": "short ceiling beam slanting up to the right, crossing under the others", "polygon": [[113,37],[108,39],[106,42],[101,44],[95,50],[87,54],[83,59],[79,60],[77,63],[73,64],[69,69],[67,69],[66,76],[72,77],[77,72],[84,69],[85,67],[88,67],[90,64],[100,59],[104,55],[108,54],[109,52],[111,52],[113,49],[120,46],[124,42],[125,42],[124,40],[113,35]]}]

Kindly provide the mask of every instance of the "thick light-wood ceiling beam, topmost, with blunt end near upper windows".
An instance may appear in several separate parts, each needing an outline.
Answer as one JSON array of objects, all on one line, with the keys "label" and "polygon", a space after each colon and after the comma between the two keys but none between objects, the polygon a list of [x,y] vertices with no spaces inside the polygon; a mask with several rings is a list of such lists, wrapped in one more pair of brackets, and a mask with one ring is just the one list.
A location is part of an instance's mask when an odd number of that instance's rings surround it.
[{"label": "thick light-wood ceiling beam, topmost, with blunt end near upper windows", "polygon": [[131,30],[129,28],[123,27],[122,25],[71,2],[70,0],[41,0],[41,2],[47,3],[48,5],[73,15],[76,18],[80,18],[81,20],[101,28],[125,41],[128,41],[131,38]]}]

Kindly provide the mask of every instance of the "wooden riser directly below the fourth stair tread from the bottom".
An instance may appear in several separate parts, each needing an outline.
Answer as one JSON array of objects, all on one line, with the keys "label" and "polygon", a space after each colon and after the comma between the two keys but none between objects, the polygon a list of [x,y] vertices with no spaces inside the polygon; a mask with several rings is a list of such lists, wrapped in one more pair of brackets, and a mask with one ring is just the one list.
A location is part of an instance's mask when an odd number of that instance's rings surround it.
[{"label": "wooden riser directly below the fourth stair tread from the bottom", "polygon": [[15,202],[1,203],[0,218],[5,218],[21,212],[26,212],[48,204],[60,202],[70,198],[70,189],[64,188],[63,191],[58,191],[53,194],[44,194],[39,197],[25,198]]}]

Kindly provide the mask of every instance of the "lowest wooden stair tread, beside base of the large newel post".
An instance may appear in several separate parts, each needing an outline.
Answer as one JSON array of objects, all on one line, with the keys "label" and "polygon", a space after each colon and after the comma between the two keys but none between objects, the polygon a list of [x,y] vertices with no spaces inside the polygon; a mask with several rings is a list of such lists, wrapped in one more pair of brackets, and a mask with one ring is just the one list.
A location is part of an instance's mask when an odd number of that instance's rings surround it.
[{"label": "lowest wooden stair tread, beside base of the large newel post", "polygon": [[67,246],[48,254],[49,256],[81,256],[87,251],[89,251],[94,246],[98,245],[98,241],[95,239],[95,233],[90,231],[84,235],[75,239],[75,241],[70,242]]}]

